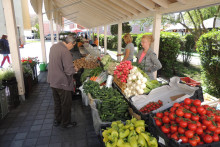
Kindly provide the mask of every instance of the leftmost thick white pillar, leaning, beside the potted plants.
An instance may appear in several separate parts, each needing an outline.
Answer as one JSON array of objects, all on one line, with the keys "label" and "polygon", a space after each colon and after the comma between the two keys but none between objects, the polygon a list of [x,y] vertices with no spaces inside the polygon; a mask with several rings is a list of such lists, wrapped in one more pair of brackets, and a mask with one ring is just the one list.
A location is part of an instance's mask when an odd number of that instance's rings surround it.
[{"label": "leftmost thick white pillar, leaning, beside the potted plants", "polygon": [[19,45],[17,39],[17,27],[14,14],[14,4],[13,0],[2,0],[5,22],[8,34],[8,41],[10,45],[12,68],[15,71],[15,76],[18,82],[18,92],[22,100],[25,100],[25,88],[24,88],[24,78],[23,70],[20,60]]}]

